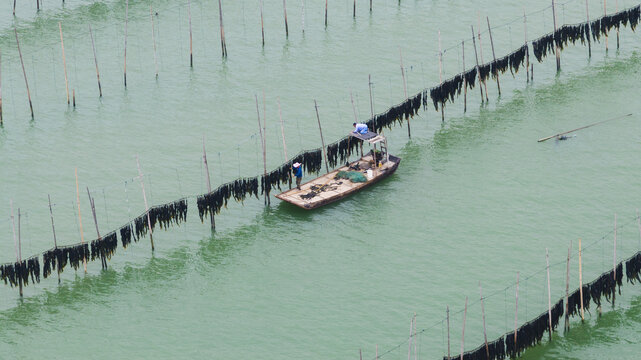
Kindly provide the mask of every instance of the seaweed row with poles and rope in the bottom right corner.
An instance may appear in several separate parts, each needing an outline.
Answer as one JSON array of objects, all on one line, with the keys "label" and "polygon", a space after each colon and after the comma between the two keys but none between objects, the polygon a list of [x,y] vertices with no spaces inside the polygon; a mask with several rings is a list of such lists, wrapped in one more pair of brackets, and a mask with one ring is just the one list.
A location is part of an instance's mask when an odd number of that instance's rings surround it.
[{"label": "seaweed row with poles and rope in the bottom right corner", "polygon": [[[617,230],[625,227],[626,225],[636,223],[636,226],[639,230],[639,250],[632,255],[631,257],[624,259],[622,261],[617,261]],[[598,243],[603,243],[604,240],[609,237],[610,234],[614,234],[613,237],[613,261],[612,267],[610,270],[601,273],[596,279],[589,283],[585,283],[583,280],[583,256],[584,251],[596,245]],[[605,254],[604,254],[605,255]],[[450,335],[450,309],[447,306],[446,317],[442,320],[437,321],[434,325],[424,328],[422,330],[417,330],[416,328],[416,314],[411,319],[410,322],[410,336],[407,340],[399,344],[398,346],[383,352],[381,355],[378,353],[378,347],[376,349],[376,356],[374,359],[378,360],[386,355],[392,353],[392,351],[400,348],[401,345],[409,343],[408,348],[408,358],[411,358],[412,355],[412,345],[414,344],[414,353],[415,356],[418,356],[418,351],[416,343],[418,342],[418,335],[425,333],[426,331],[438,326],[446,325],[447,328],[447,355],[443,356],[443,360],[503,360],[506,357],[517,358],[528,348],[534,347],[541,343],[544,338],[545,333],[548,333],[549,341],[552,341],[552,334],[556,331],[561,317],[564,317],[564,330],[568,331],[570,329],[570,316],[576,317],[580,316],[581,321],[585,320],[585,312],[590,312],[590,304],[594,303],[596,305],[596,312],[598,316],[601,316],[602,313],[602,299],[605,299],[608,303],[614,308],[616,296],[621,295],[621,286],[623,285],[623,274],[625,266],[625,277],[627,282],[634,285],[637,282],[641,282],[641,217],[639,216],[639,211],[637,210],[637,215],[629,222],[623,225],[617,226],[617,216],[614,217],[614,229],[608,234],[604,235],[600,239],[593,241],[587,246],[582,247],[581,239],[579,239],[579,248],[578,248],[578,276],[579,276],[579,287],[570,293],[570,260],[574,258],[572,255],[572,243],[568,247],[567,258],[565,259],[566,264],[566,273],[565,273],[565,296],[562,296],[558,301],[552,303],[551,295],[551,284],[550,284],[550,261],[548,249],[545,249],[545,260],[546,267],[542,270],[535,271],[529,276],[524,277],[527,286],[527,280],[533,277],[535,274],[539,274],[542,271],[547,272],[547,310],[539,314],[534,319],[526,321],[523,325],[518,326],[518,312],[519,312],[519,281],[520,273],[516,274],[516,283],[507,286],[505,289],[496,291],[490,295],[483,296],[483,288],[481,282],[479,281],[479,294],[480,294],[480,304],[481,304],[481,316],[483,320],[483,337],[484,342],[474,348],[473,350],[464,352],[465,348],[465,323],[467,319],[467,309],[468,309],[468,297],[465,298],[465,307],[457,313],[463,313],[463,324],[462,324],[462,335],[461,335],[461,346],[460,353],[457,355],[452,355],[451,353],[451,335]],[[563,262],[559,262],[553,265],[561,265]],[[486,323],[485,323],[485,306],[484,301],[494,295],[507,291],[508,289],[515,287],[515,312],[514,312],[514,327],[512,331],[507,331],[506,333],[499,336],[493,341],[488,341]],[[527,287],[526,287],[527,290]],[[505,292],[505,294],[507,294]],[[526,291],[527,295],[527,291]],[[543,294],[541,294],[543,295]],[[477,302],[479,302],[477,301]],[[507,298],[506,298],[507,301]],[[521,300],[523,301],[523,300]],[[506,303],[507,304],[507,303]],[[527,299],[526,299],[526,309],[527,309]],[[507,328],[507,310],[506,310],[506,328]]]}]

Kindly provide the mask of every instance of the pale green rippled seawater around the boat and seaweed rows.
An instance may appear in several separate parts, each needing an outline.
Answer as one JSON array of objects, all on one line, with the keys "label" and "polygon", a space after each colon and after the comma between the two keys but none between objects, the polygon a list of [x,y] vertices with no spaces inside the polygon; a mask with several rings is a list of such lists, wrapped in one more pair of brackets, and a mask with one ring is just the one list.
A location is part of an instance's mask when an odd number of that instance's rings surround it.
[{"label": "pale green rippled seawater around the boat and seaweed rows", "polygon": [[[478,86],[445,109],[431,105],[407,124],[386,130],[397,172],[349,199],[306,212],[272,197],[231,202],[211,233],[198,218],[195,196],[207,191],[203,137],[213,186],[262,173],[256,99],[266,116],[267,167],[285,160],[280,101],[290,157],[320,146],[314,100],[326,142],[475,63],[470,25],[483,31],[484,62],[527,38],[552,31],[548,2],[522,1],[224,1],[226,59],[221,57],[218,4],[191,2],[194,66],[189,66],[187,2],[130,1],[127,88],[124,88],[124,1],[0,4],[0,263],[15,261],[10,202],[21,211],[22,255],[53,247],[47,195],[59,244],[80,241],[74,170],[78,169],[84,239],[96,237],[87,188],[102,234],[143,213],[138,156],[151,205],[188,197],[186,223],[118,248],[108,270],[67,267],[25,288],[0,287],[0,359],[214,358],[383,359],[408,355],[410,320],[419,331],[411,357],[452,354],[483,343],[482,285],[488,340],[547,309],[546,249],[551,299],[611,269],[641,249],[637,223],[641,166],[641,41],[616,35],[561,53],[534,57],[525,69]],[[590,17],[603,3],[589,1]],[[149,5],[153,6],[150,16]],[[637,5],[619,1],[619,9]],[[559,24],[585,21],[585,3],[557,4]],[[615,3],[607,2],[608,13]],[[158,13],[157,15],[155,13]],[[155,76],[154,48],[158,77]],[[303,25],[304,19],[304,25]],[[69,89],[67,105],[58,22]],[[98,96],[89,25],[103,97]],[[34,106],[31,120],[17,30]],[[304,28],[304,32],[303,32]],[[400,52],[399,52],[400,50]],[[481,56],[479,49],[479,57]],[[368,77],[372,82],[372,105]],[[354,110],[350,93],[354,99]],[[632,113],[575,133],[566,141],[537,139]],[[306,176],[306,180],[311,179]],[[16,229],[17,231],[17,229]],[[641,350],[641,287],[624,283],[602,315],[571,318],[525,359],[636,359]],[[414,354],[416,347],[417,355]]]}]

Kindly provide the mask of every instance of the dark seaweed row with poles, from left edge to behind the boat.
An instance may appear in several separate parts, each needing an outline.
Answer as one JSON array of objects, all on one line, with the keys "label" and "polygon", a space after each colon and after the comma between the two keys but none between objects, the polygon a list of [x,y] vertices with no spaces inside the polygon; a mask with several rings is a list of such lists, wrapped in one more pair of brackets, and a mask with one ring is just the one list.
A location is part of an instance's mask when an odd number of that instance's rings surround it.
[{"label": "dark seaweed row with poles, from left edge to behind the boat", "polygon": [[[386,112],[374,116],[367,122],[367,125],[370,129],[375,131],[380,131],[383,127],[391,127],[395,123],[401,123],[404,119],[407,120],[417,114],[421,105],[422,93],[418,93],[405,102],[391,107]],[[291,187],[291,167],[294,162],[301,163],[307,174],[317,174],[322,168],[322,150],[324,150],[326,154],[326,164],[329,164],[328,166],[333,168],[337,164],[347,161],[353,153],[358,151],[358,146],[360,144],[361,140],[355,139],[351,136],[345,136],[344,138],[327,145],[325,148],[302,151],[294,158],[283,163],[269,173],[265,171],[263,175],[257,175],[251,178],[239,178],[222,184],[213,191],[197,196],[196,203],[200,219],[204,222],[205,216],[207,216],[211,220],[212,229],[214,229],[214,215],[219,214],[223,207],[227,207],[230,199],[233,198],[233,200],[242,203],[252,195],[258,198],[260,188],[260,194],[264,194],[267,201],[267,199],[269,199],[270,192],[273,189],[281,189],[281,185],[289,185]],[[207,155],[204,147],[203,160],[205,162],[205,166],[207,166]],[[140,171],[139,164],[138,168]],[[209,174],[208,168],[206,171],[207,174]],[[110,231],[104,236],[101,236],[100,234],[94,200],[89,189],[87,189],[97,233],[97,238],[91,242],[84,241],[82,219],[80,217],[80,211],[78,211],[81,234],[80,243],[58,246],[53,211],[51,210],[50,203],[49,208],[51,212],[54,247],[42,253],[42,266],[40,265],[40,254],[32,255],[25,259],[22,257],[22,246],[19,231],[20,209],[18,209],[18,237],[16,238],[16,219],[13,216],[12,205],[11,221],[14,229],[13,235],[16,247],[16,261],[0,265],[0,280],[12,287],[18,287],[20,295],[22,296],[22,288],[23,286],[29,285],[29,279],[31,279],[31,283],[39,283],[41,274],[44,278],[47,278],[52,271],[57,271],[58,280],[60,281],[60,273],[64,271],[67,264],[70,264],[74,270],[78,270],[82,265],[86,272],[88,261],[100,259],[102,268],[106,269],[107,261],[111,259],[118,247],[118,233],[120,234],[120,241],[123,248],[127,248],[132,239],[135,242],[138,242],[141,237],[149,234],[153,251],[153,232],[156,225],[159,225],[161,229],[167,229],[171,225],[180,225],[182,222],[185,222],[187,220],[187,199],[182,198],[149,208],[147,205],[147,196],[144,188],[142,172],[139,172],[139,180],[142,187],[143,198],[145,199],[146,211],[121,226],[118,230]],[[211,188],[209,178],[208,188]]]}]

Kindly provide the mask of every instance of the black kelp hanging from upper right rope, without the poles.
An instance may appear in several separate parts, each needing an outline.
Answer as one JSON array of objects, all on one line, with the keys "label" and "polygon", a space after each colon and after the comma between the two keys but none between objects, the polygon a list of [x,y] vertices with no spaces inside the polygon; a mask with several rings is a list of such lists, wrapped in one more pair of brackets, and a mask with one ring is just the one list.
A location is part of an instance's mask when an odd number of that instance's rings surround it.
[{"label": "black kelp hanging from upper right rope, without the poles", "polygon": [[[630,24],[630,29],[635,31],[640,17],[641,5],[637,5],[612,15],[604,15],[594,21],[563,25],[555,32],[531,41],[534,56],[539,62],[543,62],[543,58],[549,53],[554,52],[555,45],[559,50],[563,50],[569,43],[574,45],[577,41],[580,41],[582,44],[585,44],[586,41],[590,41],[590,38],[594,41],[599,41],[601,36],[607,35],[612,28],[619,29],[621,25],[627,26],[628,23]],[[499,72],[505,73],[508,69],[512,73],[512,76],[514,76],[523,65],[523,60],[528,56],[528,53],[528,45],[526,44],[500,59],[479,65],[479,79],[485,82],[490,76],[496,78]],[[476,77],[477,67],[475,66],[471,70],[464,70],[462,73],[454,75],[452,78],[443,81],[433,88],[424,90],[423,105],[427,106],[427,95],[429,91],[429,96],[434,103],[434,108],[436,111],[439,111],[439,105],[442,109],[448,101],[454,103],[454,98],[460,96],[464,84],[467,84],[470,90],[473,89]]]}]

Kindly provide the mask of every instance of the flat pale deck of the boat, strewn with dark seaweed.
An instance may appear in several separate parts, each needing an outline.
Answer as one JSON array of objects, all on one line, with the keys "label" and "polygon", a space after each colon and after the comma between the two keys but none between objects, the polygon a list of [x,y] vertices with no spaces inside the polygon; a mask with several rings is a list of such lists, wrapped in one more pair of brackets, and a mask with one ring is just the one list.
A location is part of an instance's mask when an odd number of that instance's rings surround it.
[{"label": "flat pale deck of the boat, strewn with dark seaweed", "polygon": [[[348,179],[335,179],[336,174],[339,171],[350,171],[347,166],[341,166],[340,168],[325,175],[321,175],[311,181],[301,184],[300,190],[293,188],[276,195],[276,197],[303,209],[314,209],[319,206],[329,204],[357,192],[364,187],[372,185],[392,174],[398,167],[401,159],[392,155],[390,155],[389,159],[390,160],[381,165],[381,167],[372,168],[372,178],[368,179],[366,182],[353,183]],[[365,164],[369,164],[371,161],[372,155],[370,153],[359,160],[350,163],[350,166],[354,166],[358,163],[359,166],[362,167],[366,166]],[[361,170],[361,172],[367,177],[364,170]],[[313,196],[305,198],[310,195]]]}]

